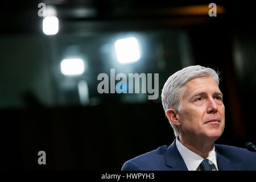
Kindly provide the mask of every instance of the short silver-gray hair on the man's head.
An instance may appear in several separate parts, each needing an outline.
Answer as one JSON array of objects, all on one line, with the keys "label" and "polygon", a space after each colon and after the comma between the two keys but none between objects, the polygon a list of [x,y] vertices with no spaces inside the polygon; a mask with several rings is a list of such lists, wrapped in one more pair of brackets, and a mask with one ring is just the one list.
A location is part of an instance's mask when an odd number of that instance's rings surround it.
[{"label": "short silver-gray hair on the man's head", "polygon": [[[213,77],[217,85],[219,84],[219,73],[211,68],[201,67],[200,65],[189,66],[177,71],[171,75],[165,82],[162,89],[162,104],[164,111],[168,109],[175,109],[181,113],[181,100],[184,94],[184,86],[188,81],[199,77]],[[175,137],[179,135],[177,127],[170,122],[172,129],[174,129]]]}]

